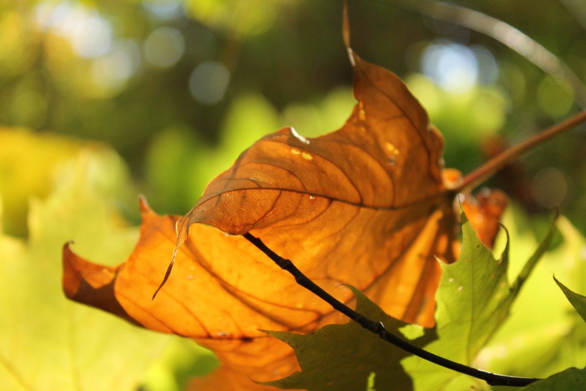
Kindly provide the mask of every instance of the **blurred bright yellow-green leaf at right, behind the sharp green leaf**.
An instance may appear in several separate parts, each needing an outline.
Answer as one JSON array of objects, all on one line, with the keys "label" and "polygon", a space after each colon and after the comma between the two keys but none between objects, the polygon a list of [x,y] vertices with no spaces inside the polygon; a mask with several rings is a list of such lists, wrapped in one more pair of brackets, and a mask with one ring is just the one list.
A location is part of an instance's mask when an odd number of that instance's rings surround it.
[{"label": "blurred bright yellow-green leaf at right, behind the sharp green leaf", "polygon": [[[513,238],[511,273],[519,273],[520,260],[529,257],[528,249],[538,244],[531,232],[532,223],[516,208],[505,216]],[[581,366],[586,360],[586,324],[551,278],[555,273],[575,290],[586,291],[581,255],[586,241],[564,216],[558,219],[557,228],[563,241],[537,264],[509,318],[479,354],[476,363],[481,368],[543,378]]]}]

